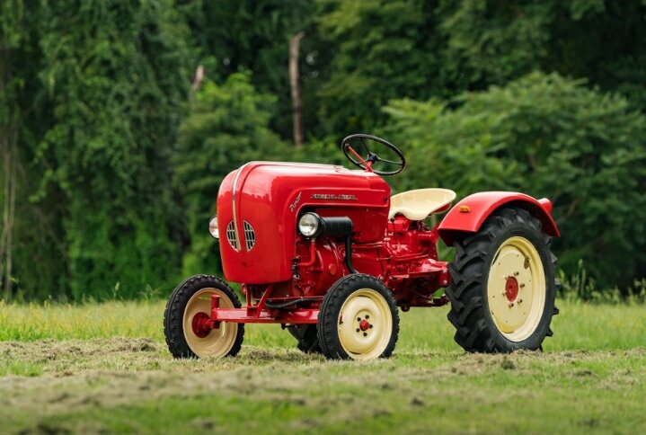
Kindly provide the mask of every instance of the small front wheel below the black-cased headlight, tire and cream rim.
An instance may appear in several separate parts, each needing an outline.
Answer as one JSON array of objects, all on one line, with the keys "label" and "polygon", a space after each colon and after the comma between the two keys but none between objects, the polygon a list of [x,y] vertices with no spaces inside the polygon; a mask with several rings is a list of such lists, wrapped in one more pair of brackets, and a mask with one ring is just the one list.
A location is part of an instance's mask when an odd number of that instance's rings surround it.
[{"label": "small front wheel below the black-cased headlight, tire and cream rim", "polygon": [[338,280],[327,291],[318,320],[318,341],[330,360],[388,358],[399,335],[393,294],[363,274]]}]

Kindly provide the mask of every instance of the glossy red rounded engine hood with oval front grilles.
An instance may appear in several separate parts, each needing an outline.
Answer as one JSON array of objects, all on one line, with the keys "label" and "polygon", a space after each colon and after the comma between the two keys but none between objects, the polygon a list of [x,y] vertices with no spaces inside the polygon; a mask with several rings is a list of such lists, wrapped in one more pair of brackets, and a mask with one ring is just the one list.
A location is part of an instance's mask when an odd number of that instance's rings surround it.
[{"label": "glossy red rounded engine hood with oval front grilles", "polygon": [[247,284],[292,278],[297,219],[304,211],[347,216],[353,243],[384,238],[390,188],[375,173],[330,164],[251,162],[229,173],[217,194],[226,280]]}]

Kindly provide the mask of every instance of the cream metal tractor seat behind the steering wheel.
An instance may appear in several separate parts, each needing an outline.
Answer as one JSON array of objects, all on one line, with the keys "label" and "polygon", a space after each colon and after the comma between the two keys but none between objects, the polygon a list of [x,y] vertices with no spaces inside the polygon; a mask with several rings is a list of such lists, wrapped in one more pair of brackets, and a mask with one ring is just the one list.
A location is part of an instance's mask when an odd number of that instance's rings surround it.
[{"label": "cream metal tractor seat behind the steering wheel", "polygon": [[455,199],[456,192],[448,189],[404,191],[390,197],[388,218],[399,213],[411,220],[422,220],[438,210],[444,211]]}]

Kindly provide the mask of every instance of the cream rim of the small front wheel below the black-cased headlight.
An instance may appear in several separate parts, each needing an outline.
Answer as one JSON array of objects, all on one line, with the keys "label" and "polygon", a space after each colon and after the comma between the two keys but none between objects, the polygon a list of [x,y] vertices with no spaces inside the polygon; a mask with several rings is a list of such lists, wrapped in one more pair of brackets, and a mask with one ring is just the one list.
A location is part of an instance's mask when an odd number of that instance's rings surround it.
[{"label": "cream rim of the small front wheel below the black-cased headlight", "polygon": [[339,313],[339,341],[352,360],[381,356],[393,333],[393,315],[373,289],[359,289],[345,300]]}]

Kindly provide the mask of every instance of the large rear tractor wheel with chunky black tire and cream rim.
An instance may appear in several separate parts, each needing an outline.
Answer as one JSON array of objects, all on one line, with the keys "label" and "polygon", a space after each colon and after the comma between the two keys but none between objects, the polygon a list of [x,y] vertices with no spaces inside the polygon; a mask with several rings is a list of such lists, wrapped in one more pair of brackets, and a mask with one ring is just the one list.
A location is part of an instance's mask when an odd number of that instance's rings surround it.
[{"label": "large rear tractor wheel with chunky black tire and cream rim", "polygon": [[448,320],[465,351],[542,350],[558,314],[550,242],[527,210],[505,208],[454,244]]}]

